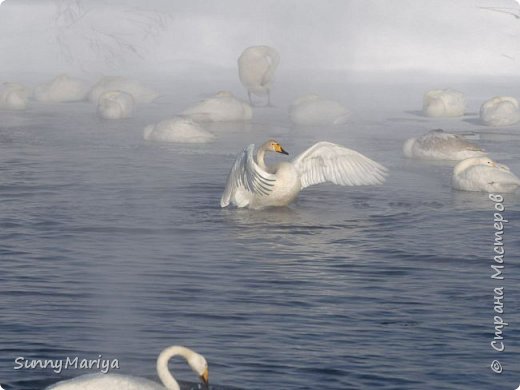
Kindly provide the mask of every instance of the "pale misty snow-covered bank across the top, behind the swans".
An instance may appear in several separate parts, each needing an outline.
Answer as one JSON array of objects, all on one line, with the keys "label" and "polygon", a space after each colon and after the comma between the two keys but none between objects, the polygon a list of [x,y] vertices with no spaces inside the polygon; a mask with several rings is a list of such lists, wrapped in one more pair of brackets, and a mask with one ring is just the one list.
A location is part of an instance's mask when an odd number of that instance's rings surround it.
[{"label": "pale misty snow-covered bank across the top, behind the swans", "polygon": [[281,54],[280,75],[508,77],[518,74],[519,18],[514,0],[7,0],[0,72],[214,78],[265,44]]}]

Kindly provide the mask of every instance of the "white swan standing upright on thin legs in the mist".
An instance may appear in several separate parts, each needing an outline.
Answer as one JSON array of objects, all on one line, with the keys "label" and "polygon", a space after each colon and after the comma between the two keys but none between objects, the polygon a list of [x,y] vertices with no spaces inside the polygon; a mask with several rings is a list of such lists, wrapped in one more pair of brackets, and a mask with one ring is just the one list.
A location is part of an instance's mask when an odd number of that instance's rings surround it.
[{"label": "white swan standing upright on thin legs in the mist", "polygon": [[269,46],[248,47],[238,58],[238,76],[252,106],[251,94],[267,94],[267,105],[271,105],[271,83],[279,63],[280,55]]}]

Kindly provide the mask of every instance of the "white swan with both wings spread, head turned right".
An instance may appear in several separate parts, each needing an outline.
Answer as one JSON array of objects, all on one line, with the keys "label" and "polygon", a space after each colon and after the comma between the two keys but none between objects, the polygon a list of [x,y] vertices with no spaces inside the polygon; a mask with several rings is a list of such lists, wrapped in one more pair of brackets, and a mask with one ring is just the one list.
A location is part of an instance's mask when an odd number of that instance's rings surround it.
[{"label": "white swan with both wings spread, head turned right", "polygon": [[240,153],[229,172],[220,206],[253,209],[286,206],[314,184],[372,185],[385,181],[387,169],[368,157],[331,142],[318,142],[292,162],[267,166],[266,152],[288,154],[275,140],[258,148],[251,144]]}]

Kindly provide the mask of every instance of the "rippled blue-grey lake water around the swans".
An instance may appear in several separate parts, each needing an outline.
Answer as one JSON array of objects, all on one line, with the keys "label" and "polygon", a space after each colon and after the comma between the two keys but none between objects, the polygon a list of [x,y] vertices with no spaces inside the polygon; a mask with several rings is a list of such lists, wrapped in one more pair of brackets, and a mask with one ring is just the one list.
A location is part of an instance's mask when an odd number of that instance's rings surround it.
[{"label": "rippled blue-grey lake water around the swans", "polygon": [[[146,142],[146,124],[222,89],[169,83],[158,84],[170,94],[128,120],[98,120],[88,103],[0,113],[4,388],[96,371],[15,370],[17,357],[102,355],[118,359],[112,372],[156,379],[155,359],[173,344],[202,353],[222,389],[518,386],[520,195],[505,196],[499,282],[490,278],[494,203],[452,190],[450,164],[401,154],[407,137],[433,128],[474,132],[520,173],[520,128],[486,128],[476,114],[485,98],[518,85],[454,86],[470,114],[453,120],[419,115],[426,85],[323,85],[353,117],[319,129],[289,123],[299,91],[280,88],[276,107],[255,108],[251,123],[208,126],[213,143]],[[289,158],[336,142],[390,175],[377,187],[311,187],[289,208],[221,209],[235,155],[269,137]],[[490,346],[499,285],[510,324],[502,353]],[[170,368],[195,381],[184,363]]]}]

